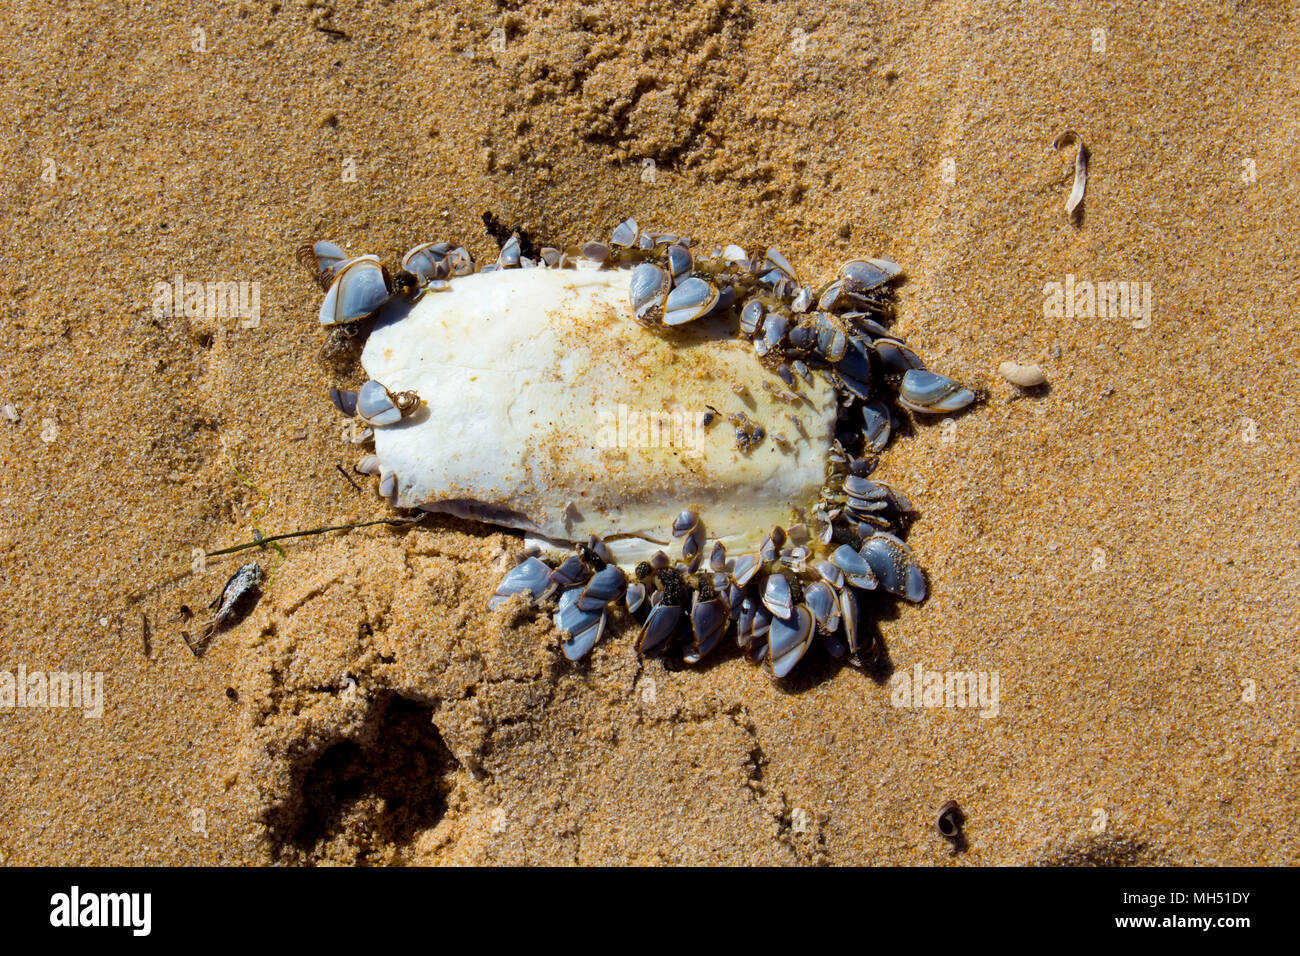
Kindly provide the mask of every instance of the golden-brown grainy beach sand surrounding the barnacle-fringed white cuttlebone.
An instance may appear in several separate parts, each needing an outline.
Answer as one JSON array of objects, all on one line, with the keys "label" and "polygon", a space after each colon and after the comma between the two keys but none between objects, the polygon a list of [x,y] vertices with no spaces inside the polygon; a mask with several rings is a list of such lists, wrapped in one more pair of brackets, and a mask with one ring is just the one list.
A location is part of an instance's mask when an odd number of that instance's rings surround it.
[{"label": "golden-brown grainy beach sand surrounding the barnacle-fringed white cuttlebone", "polygon": [[[0,861],[1300,861],[1291,7],[17,0],[0,26],[0,671],[101,675],[99,715],[0,708]],[[896,330],[987,401],[883,455],[931,594],[875,622],[872,666],[641,658],[625,614],[571,663],[547,614],[486,610],[520,536],[450,518],[254,551],[261,601],[191,653],[250,559],[202,551],[394,514],[341,475],[295,251],[490,261],[484,213],[556,243],[632,215],[815,280],[902,264]],[[256,284],[257,321],[160,316],[176,281]],[[1149,307],[1052,306],[1109,282]],[[996,674],[997,706],[898,706],[890,675],[928,671]]]}]

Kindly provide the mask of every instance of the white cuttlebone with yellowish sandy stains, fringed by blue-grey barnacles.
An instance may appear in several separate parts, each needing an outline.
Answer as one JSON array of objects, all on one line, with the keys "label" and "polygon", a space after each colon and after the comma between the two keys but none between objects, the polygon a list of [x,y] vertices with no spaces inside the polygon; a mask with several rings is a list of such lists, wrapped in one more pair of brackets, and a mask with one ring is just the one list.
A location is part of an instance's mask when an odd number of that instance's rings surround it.
[{"label": "white cuttlebone with yellowish sandy stains, fringed by blue-grey barnacles", "polygon": [[[368,376],[425,402],[376,431],[376,454],[396,476],[393,503],[559,546],[597,535],[624,566],[660,548],[675,553],[670,527],[684,507],[733,554],[757,550],[774,525],[811,509],[835,427],[832,386],[818,376],[789,405],[762,388],[772,373],[720,320],[638,325],[629,276],[465,276],[372,332],[361,355]],[[710,405],[720,415],[703,428]],[[693,423],[698,451],[692,432],[670,441],[660,431],[658,445],[634,446],[620,407]],[[768,437],[740,453],[727,415],[741,411],[770,433],[781,423],[790,445]],[[786,412],[805,433],[785,427]]]}]

